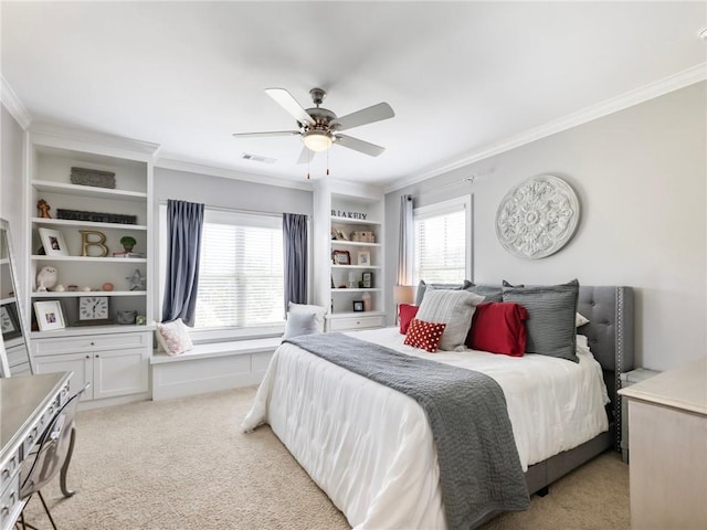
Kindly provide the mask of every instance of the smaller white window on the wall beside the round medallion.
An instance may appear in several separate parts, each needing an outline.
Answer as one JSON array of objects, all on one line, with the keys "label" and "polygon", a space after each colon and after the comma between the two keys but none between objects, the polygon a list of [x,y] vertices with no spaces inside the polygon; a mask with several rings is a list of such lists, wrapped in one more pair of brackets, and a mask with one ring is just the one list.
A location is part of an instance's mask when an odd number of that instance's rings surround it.
[{"label": "smaller white window on the wall beside the round medallion", "polygon": [[415,283],[456,284],[472,279],[472,197],[413,211]]}]

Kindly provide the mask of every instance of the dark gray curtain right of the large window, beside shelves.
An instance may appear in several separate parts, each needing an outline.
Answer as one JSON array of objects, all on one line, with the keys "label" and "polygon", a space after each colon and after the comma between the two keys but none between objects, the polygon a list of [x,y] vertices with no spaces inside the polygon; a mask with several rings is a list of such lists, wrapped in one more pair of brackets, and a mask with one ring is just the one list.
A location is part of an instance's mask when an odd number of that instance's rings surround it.
[{"label": "dark gray curtain right of the large window, beside shelves", "polygon": [[307,303],[307,215],[283,213],[285,312],[287,303]]}]

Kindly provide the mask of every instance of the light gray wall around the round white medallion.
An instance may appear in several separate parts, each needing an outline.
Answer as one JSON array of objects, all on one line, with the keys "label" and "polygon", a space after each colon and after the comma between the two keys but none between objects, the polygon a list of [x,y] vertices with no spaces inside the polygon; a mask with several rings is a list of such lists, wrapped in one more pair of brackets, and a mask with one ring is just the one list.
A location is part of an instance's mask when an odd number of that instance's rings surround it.
[{"label": "light gray wall around the round white medallion", "polygon": [[[387,285],[395,283],[400,194],[421,205],[473,193],[476,283],[630,285],[637,365],[665,370],[705,356],[706,102],[703,82],[387,194]],[[458,183],[473,173],[474,184]],[[574,188],[580,226],[559,253],[520,259],[496,241],[496,209],[515,184],[545,173]],[[392,315],[392,299],[387,308]]]}]

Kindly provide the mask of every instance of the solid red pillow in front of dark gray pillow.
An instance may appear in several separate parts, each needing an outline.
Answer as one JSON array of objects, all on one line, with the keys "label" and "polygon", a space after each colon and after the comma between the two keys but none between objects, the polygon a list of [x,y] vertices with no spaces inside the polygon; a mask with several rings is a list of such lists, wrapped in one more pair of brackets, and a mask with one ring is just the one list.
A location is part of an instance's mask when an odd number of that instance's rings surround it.
[{"label": "solid red pillow in front of dark gray pillow", "polygon": [[525,307],[513,303],[479,304],[472,318],[466,346],[473,350],[523,357],[526,351]]}]

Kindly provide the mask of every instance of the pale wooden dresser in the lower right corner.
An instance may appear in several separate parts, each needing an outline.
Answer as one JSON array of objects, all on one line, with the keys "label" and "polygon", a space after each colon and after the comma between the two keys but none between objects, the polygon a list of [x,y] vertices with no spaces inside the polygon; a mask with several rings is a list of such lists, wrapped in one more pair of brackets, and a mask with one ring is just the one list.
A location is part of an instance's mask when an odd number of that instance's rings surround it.
[{"label": "pale wooden dresser in the lower right corner", "polygon": [[629,400],[631,527],[707,528],[707,357],[619,393]]}]

